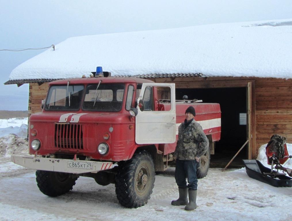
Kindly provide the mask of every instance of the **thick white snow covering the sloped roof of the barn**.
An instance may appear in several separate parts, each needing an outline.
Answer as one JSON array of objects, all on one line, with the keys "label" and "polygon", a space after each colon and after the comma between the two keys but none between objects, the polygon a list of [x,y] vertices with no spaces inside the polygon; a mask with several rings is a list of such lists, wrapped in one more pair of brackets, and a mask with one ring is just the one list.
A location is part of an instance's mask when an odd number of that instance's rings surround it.
[{"label": "thick white snow covering the sloped roof of the barn", "polygon": [[10,80],[196,74],[292,78],[292,19],[72,37],[27,60]]}]

